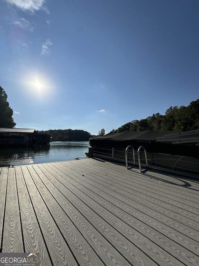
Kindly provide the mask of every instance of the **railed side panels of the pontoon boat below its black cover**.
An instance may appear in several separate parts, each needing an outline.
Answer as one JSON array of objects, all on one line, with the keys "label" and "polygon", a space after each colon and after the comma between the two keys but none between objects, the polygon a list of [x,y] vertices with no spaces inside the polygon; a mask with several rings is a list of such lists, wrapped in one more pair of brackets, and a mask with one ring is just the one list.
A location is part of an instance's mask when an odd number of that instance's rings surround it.
[{"label": "railed side panels of the pontoon boat below its black cover", "polygon": [[[91,152],[92,151],[92,152]],[[94,158],[100,159],[107,159],[110,161],[118,162],[118,163],[126,163],[125,160],[125,148],[113,148],[113,147],[104,147],[104,146],[97,146],[93,145],[90,146],[90,156]],[[128,149],[128,165],[134,166],[133,164],[138,167],[139,160],[137,156],[138,151],[135,150],[135,163],[133,160],[133,150]],[[192,157],[182,157],[182,156],[174,156],[169,154],[162,154],[150,152],[144,152],[142,148],[140,148],[140,160],[142,168],[145,167],[146,161],[146,153],[147,153],[147,164],[149,165],[150,169],[154,170],[163,170],[166,172],[172,172],[176,174],[181,174],[184,176],[192,176],[197,177],[199,176],[199,159],[192,158]],[[125,165],[126,166],[126,165]],[[148,168],[148,166],[146,167]],[[144,170],[143,170],[144,171]],[[142,172],[143,172],[142,171]]]}]

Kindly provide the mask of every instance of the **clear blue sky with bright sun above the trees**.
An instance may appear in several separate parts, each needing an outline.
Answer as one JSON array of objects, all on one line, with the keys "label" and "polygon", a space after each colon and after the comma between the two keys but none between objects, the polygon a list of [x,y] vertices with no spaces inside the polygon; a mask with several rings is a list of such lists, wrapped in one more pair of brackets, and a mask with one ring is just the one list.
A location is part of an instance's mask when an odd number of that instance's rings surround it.
[{"label": "clear blue sky with bright sun above the trees", "polygon": [[198,26],[198,0],[1,0],[0,85],[16,128],[97,135],[189,105]]}]

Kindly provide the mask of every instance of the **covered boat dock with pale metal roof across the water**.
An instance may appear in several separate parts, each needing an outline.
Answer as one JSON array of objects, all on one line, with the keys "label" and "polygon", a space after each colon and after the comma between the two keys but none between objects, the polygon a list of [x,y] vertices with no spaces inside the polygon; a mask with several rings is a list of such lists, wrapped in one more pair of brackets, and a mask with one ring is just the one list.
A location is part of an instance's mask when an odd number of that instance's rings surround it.
[{"label": "covered boat dock with pale metal roof across the water", "polygon": [[51,137],[47,131],[37,132],[27,128],[0,128],[0,148],[35,147],[48,145]]}]

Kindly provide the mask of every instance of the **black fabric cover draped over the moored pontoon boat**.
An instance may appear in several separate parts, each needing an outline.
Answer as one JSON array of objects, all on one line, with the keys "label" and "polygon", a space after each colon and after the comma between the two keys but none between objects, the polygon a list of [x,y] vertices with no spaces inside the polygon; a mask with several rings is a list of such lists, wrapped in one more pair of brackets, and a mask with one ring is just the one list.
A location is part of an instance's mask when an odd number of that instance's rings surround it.
[{"label": "black fabric cover draped over the moored pontoon boat", "polygon": [[112,148],[127,148],[131,145],[135,150],[140,146],[144,146],[147,152],[166,153],[172,155],[181,155],[187,157],[199,158],[199,148],[194,144],[172,144],[157,141],[157,138],[165,135],[181,133],[178,131],[125,131],[122,133],[108,133],[101,137],[90,138],[89,145],[112,147]]}]

